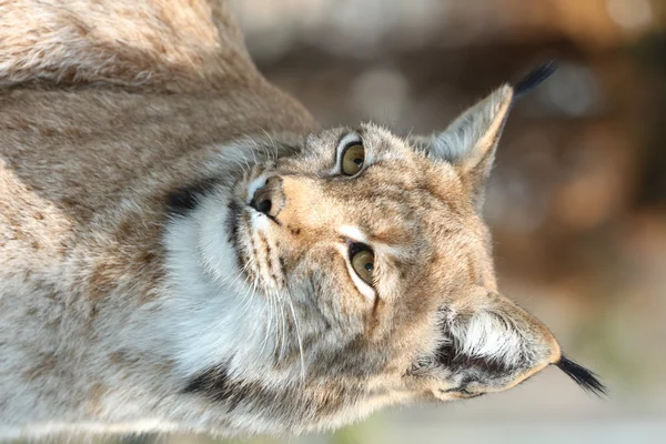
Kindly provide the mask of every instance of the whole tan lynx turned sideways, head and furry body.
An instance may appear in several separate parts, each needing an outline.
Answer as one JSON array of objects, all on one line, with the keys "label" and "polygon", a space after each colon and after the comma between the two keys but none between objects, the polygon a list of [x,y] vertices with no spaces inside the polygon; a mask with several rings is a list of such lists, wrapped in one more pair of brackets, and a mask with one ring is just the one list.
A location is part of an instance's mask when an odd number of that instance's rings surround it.
[{"label": "whole tan lynx turned sideways, head and furry body", "polygon": [[481,218],[517,95],[320,129],[224,1],[0,1],[0,440],[330,430],[604,386],[502,295]]}]

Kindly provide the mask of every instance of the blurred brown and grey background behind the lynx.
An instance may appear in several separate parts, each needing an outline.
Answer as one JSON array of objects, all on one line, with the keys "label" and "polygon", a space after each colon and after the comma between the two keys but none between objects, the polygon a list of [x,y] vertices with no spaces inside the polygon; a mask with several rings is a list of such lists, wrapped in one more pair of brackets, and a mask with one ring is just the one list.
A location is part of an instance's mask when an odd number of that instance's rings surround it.
[{"label": "blurred brown and grey background behind the lynx", "polygon": [[[235,0],[265,77],[324,124],[441,130],[537,62],[486,204],[500,287],[594,369],[292,443],[666,442],[666,0]],[[212,443],[203,436],[133,442]],[[254,440],[252,443],[280,441]]]}]

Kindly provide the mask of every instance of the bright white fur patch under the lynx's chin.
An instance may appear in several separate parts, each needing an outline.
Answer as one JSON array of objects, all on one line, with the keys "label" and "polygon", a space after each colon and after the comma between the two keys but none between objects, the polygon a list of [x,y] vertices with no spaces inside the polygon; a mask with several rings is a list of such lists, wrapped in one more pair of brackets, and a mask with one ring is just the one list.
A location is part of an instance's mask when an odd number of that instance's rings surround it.
[{"label": "bright white fur patch under the lynx's chin", "polygon": [[164,330],[172,332],[178,364],[188,375],[220,363],[235,363],[239,372],[256,369],[262,349],[268,353],[272,345],[265,323],[258,322],[266,316],[265,301],[241,278],[226,241],[226,215],[219,193],[167,230],[167,266],[179,296],[165,302],[173,306],[164,312],[173,316],[164,319],[170,324]]}]

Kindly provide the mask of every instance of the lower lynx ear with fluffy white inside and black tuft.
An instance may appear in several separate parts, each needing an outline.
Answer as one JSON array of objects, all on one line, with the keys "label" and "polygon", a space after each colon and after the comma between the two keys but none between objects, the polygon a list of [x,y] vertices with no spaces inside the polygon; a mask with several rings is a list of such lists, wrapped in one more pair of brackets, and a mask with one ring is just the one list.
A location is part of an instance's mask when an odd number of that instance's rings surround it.
[{"label": "lower lynx ear with fluffy white inside and black tuft", "polygon": [[549,364],[583,389],[605,393],[594,373],[562,355],[541,321],[501,294],[478,287],[464,304],[443,313],[444,342],[435,361],[448,375],[445,393],[500,392]]}]

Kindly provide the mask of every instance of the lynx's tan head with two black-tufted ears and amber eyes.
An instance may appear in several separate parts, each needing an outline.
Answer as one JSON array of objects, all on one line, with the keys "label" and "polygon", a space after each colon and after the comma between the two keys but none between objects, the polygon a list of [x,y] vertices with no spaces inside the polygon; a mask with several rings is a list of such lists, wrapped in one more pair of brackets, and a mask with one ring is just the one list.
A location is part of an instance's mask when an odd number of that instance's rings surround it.
[{"label": "lynx's tan head with two black-tufted ears and amber eyes", "polygon": [[[202,234],[200,263],[236,290],[233,317],[250,325],[235,345],[219,344],[224,357],[201,365],[188,395],[266,431],[301,431],[390,403],[504,391],[551,364],[602,393],[500,293],[481,216],[515,97],[549,70],[497,89],[432,137],[374,124],[311,134],[230,193],[202,199],[224,223]],[[222,265],[228,254],[235,271]],[[229,284],[225,273],[240,278]]]}]

